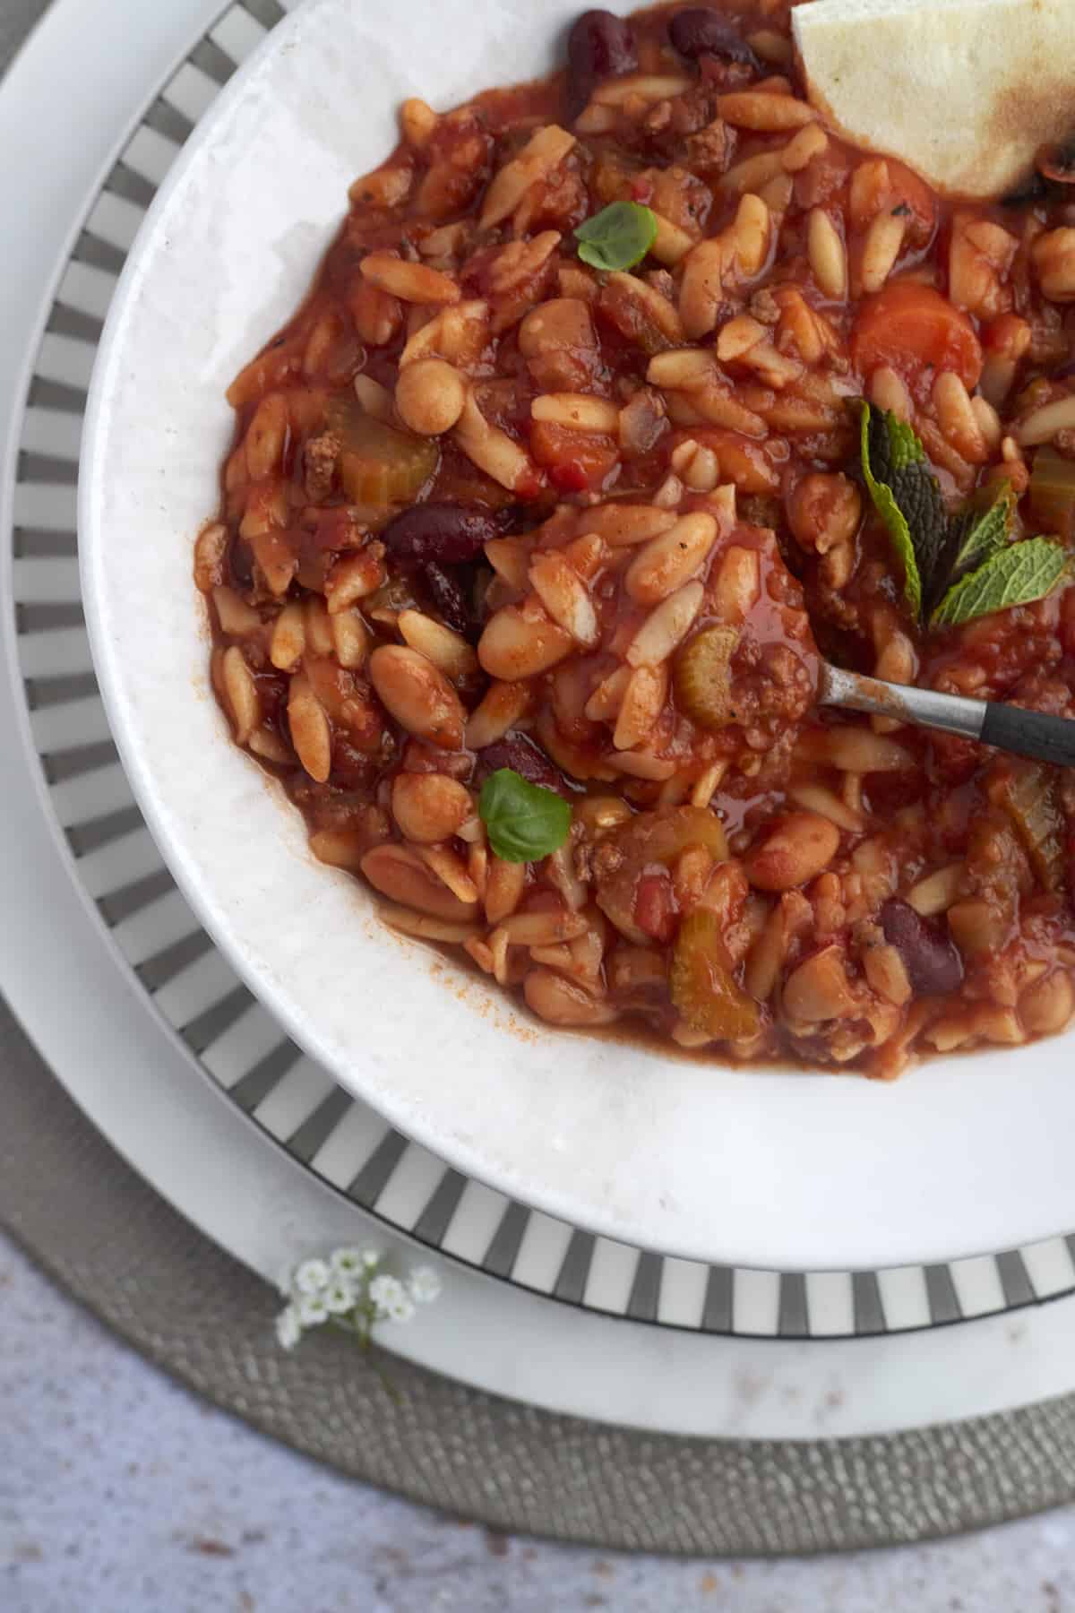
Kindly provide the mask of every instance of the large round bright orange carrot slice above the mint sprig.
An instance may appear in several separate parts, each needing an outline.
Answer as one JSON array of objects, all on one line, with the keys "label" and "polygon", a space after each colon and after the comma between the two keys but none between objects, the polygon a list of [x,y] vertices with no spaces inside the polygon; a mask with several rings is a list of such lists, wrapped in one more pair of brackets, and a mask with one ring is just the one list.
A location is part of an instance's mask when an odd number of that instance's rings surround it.
[{"label": "large round bright orange carrot slice above the mint sprig", "polygon": [[851,336],[851,356],[862,376],[890,365],[903,376],[954,369],[969,392],[982,374],[982,344],[965,313],[914,281],[894,281],[867,297]]}]

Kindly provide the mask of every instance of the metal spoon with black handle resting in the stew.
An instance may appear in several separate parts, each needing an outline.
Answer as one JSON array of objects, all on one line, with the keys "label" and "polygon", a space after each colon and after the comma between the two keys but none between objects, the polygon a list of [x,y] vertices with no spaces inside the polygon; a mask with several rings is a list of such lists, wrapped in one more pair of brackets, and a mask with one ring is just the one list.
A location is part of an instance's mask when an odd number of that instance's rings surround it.
[{"label": "metal spoon with black handle resting in the stew", "polygon": [[880,677],[845,673],[825,661],[820,666],[817,700],[849,711],[893,716],[919,727],[940,727],[946,734],[962,734],[964,739],[977,739],[998,750],[1014,750],[1017,756],[1075,768],[1075,721],[1065,716],[1023,711],[1022,706],[999,700],[941,695],[933,689],[904,689]]}]

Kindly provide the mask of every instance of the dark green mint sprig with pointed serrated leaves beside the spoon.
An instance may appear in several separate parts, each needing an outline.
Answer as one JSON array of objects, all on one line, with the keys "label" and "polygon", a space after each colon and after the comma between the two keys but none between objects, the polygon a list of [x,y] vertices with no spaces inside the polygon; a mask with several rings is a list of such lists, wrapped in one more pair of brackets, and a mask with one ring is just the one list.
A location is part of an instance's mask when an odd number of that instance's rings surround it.
[{"label": "dark green mint sprig with pointed serrated leaves beside the spoon", "polygon": [[862,476],[904,571],[915,623],[957,627],[1044,598],[1069,574],[1054,537],[1014,540],[1019,500],[1002,482],[993,502],[949,515],[927,453],[904,421],[862,402]]}]

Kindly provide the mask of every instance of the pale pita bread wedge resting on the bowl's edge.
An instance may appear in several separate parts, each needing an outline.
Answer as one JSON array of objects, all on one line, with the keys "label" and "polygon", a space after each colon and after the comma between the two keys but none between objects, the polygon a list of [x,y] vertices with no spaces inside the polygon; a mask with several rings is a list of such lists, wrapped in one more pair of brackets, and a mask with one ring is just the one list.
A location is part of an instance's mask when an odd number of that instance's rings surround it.
[{"label": "pale pita bread wedge resting on the bowl's edge", "polygon": [[814,105],[938,190],[1001,195],[1075,132],[1075,0],[814,0],[793,23]]}]

